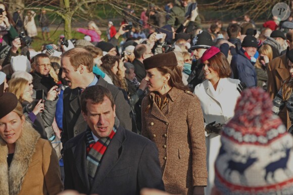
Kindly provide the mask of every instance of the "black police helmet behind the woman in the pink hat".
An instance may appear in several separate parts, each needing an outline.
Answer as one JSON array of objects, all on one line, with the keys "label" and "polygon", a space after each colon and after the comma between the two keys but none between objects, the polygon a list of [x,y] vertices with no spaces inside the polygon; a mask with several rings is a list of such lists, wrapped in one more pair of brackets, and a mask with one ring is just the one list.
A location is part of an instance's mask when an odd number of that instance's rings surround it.
[{"label": "black police helmet behind the woman in the pink hat", "polygon": [[208,49],[214,45],[212,36],[210,33],[203,31],[202,33],[196,35],[191,41],[191,50],[196,48],[205,48]]}]

